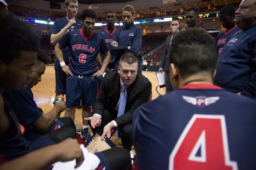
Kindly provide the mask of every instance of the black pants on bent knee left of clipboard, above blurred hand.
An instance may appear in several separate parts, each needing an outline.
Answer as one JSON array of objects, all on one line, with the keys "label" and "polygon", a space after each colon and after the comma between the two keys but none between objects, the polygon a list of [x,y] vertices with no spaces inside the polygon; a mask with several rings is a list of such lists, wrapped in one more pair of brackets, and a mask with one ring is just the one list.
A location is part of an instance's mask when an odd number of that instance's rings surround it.
[{"label": "black pants on bent knee left of clipboard, above blurred hand", "polygon": [[63,122],[64,126],[54,130],[42,138],[49,139],[56,144],[68,138],[76,139],[76,126],[73,120],[70,117],[61,117],[58,120]]}]

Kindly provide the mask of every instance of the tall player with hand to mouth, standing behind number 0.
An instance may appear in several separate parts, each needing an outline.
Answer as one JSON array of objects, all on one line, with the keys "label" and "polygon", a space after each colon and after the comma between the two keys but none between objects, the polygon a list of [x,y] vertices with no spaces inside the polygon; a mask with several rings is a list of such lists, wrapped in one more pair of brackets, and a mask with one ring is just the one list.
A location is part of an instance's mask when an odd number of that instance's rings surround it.
[{"label": "tall player with hand to mouth, standing behind number 0", "polygon": [[[51,44],[56,45],[56,43],[68,32],[71,30],[77,30],[82,28],[81,21],[75,18],[78,11],[78,1],[77,0],[65,0],[65,10],[67,11],[67,16],[59,18],[54,21],[53,28],[51,31]],[[69,49],[68,47],[62,49],[64,61],[59,62],[58,56],[55,59],[54,69],[55,69],[55,99],[59,95],[66,94],[66,80],[67,74],[62,70],[63,65],[69,64]],[[55,101],[54,99],[54,101]],[[76,125],[76,131],[79,132],[81,128],[74,122]]]}]

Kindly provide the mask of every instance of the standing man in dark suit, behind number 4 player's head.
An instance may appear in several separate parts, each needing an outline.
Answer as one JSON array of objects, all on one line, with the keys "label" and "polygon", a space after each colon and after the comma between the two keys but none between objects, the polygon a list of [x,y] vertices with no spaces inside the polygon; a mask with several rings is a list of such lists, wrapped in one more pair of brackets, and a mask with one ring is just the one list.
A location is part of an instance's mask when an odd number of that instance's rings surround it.
[{"label": "standing man in dark suit, behind number 4 player's head", "polygon": [[[170,78],[169,78],[169,55],[170,55],[170,45],[171,45],[171,39],[172,37],[178,33],[178,28],[179,28],[179,21],[176,19],[173,19],[171,21],[171,25],[170,25],[172,34],[166,38],[165,41],[165,49],[164,49],[164,53],[162,56],[162,61],[161,61],[161,65],[159,68],[158,72],[163,72],[165,71],[165,91],[168,92],[169,91],[169,87],[170,87]],[[173,91],[173,88],[171,87],[171,91]]]}]

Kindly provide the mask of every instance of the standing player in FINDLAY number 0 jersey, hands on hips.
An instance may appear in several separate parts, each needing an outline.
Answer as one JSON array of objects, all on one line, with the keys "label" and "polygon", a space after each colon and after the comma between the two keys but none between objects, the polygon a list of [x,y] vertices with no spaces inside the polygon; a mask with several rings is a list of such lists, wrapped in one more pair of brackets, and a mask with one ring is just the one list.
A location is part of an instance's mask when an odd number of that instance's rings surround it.
[{"label": "standing player in FINDLAY number 0 jersey, hands on hips", "polygon": [[[91,106],[98,94],[97,77],[103,75],[109,64],[110,52],[105,40],[93,30],[97,20],[97,13],[91,9],[84,9],[81,14],[82,29],[69,31],[55,46],[55,52],[60,62],[64,61],[62,49],[69,47],[70,65],[63,65],[62,70],[69,75],[67,79],[65,117],[75,119],[75,109],[82,99],[83,129],[81,137],[87,142],[91,135],[88,133],[88,122],[85,117],[91,113]],[[97,69],[97,54],[105,56],[102,68]]]}]

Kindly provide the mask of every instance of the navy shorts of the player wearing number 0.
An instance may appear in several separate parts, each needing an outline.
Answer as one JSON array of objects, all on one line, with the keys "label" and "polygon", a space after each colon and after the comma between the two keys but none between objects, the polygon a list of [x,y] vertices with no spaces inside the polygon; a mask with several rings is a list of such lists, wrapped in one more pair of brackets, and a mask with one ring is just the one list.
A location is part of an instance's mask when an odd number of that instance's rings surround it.
[{"label": "navy shorts of the player wearing number 0", "polygon": [[67,79],[66,106],[76,108],[82,100],[83,106],[92,106],[98,95],[97,79],[91,75],[73,75]]}]

